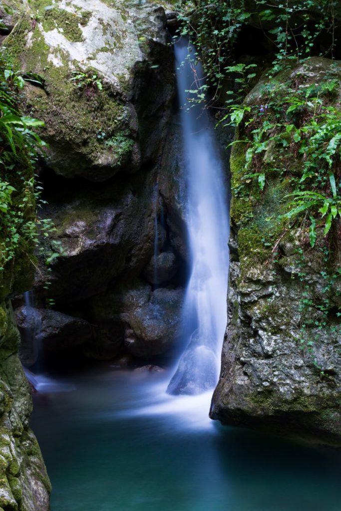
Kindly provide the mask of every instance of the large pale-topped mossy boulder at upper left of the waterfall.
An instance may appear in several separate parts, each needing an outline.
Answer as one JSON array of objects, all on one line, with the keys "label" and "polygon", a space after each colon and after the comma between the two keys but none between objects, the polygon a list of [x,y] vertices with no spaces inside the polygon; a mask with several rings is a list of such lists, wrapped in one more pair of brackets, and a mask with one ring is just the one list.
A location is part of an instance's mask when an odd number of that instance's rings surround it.
[{"label": "large pale-topped mossy boulder at upper left of the waterfall", "polygon": [[27,113],[46,122],[46,164],[103,181],[155,159],[174,94],[164,9],[33,0],[20,12],[6,46],[30,80]]}]

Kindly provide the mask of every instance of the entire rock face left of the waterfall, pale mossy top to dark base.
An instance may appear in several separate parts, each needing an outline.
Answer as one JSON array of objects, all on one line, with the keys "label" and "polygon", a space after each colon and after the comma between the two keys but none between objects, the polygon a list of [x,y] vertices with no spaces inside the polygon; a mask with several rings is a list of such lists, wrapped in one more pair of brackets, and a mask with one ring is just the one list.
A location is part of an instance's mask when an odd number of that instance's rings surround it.
[{"label": "entire rock face left of the waterfall, pale mossy top to dark base", "polygon": [[[46,123],[41,217],[56,229],[42,241],[35,340],[46,354],[78,344],[99,359],[158,356],[177,338],[186,258],[181,142],[171,123],[171,9],[122,0],[22,5],[13,4],[16,25],[6,44],[29,79],[22,108]],[[51,250],[59,257],[47,269]],[[152,292],[146,281],[164,287]],[[138,296],[141,286],[145,301],[132,306],[127,289]],[[53,310],[44,312],[47,300]],[[32,335],[25,341],[24,333],[32,328],[22,312],[21,354],[31,364]]]}]

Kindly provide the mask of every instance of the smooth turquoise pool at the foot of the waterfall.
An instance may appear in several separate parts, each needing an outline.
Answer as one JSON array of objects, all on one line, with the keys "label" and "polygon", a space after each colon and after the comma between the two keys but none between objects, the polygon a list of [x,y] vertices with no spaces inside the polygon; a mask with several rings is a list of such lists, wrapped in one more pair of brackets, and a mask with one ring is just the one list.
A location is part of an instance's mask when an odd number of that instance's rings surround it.
[{"label": "smooth turquoise pool at the foot of the waterfall", "polygon": [[36,394],[52,511],[340,511],[341,452],[223,428],[168,379],[102,368]]}]

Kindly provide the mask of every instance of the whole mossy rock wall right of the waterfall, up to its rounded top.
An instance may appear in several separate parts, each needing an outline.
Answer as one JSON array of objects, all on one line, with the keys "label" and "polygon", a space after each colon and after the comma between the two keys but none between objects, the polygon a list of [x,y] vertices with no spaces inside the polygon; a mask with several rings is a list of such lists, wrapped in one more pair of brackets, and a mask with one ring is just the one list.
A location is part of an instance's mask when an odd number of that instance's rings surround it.
[{"label": "whole mossy rock wall right of the waterfall, up to its rounded top", "polygon": [[[265,115],[270,125],[275,96],[285,112],[286,102],[292,105],[300,94],[309,97],[313,91],[312,97],[321,89],[321,104],[331,115],[331,108],[340,105],[340,70],[339,62],[324,58],[291,64],[270,80],[264,77],[244,104],[260,112],[269,103]],[[323,92],[331,81],[335,89]],[[308,125],[309,113],[302,108],[292,109],[292,118],[287,113],[286,122]],[[253,121],[251,125],[256,129]],[[281,133],[278,138],[275,130]],[[340,221],[329,237],[320,221],[313,247],[307,215],[288,223],[284,215],[292,201],[290,175],[304,174],[308,150],[300,154],[298,137],[289,147],[290,136],[282,130],[283,124],[270,125],[265,135],[270,142],[252,161],[253,169],[260,169],[254,172],[265,172],[262,190],[251,178],[245,181],[249,146],[232,149],[229,321],[210,416],[223,424],[339,446]],[[244,140],[250,131],[246,117],[235,140]],[[288,137],[287,142],[282,144],[281,136]],[[244,187],[245,193],[240,192]]]}]

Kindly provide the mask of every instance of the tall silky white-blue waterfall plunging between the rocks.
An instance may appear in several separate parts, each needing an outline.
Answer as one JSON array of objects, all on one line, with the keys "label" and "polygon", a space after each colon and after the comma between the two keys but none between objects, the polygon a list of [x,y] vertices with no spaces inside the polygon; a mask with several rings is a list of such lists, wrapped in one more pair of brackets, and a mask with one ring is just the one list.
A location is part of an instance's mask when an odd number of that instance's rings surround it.
[{"label": "tall silky white-blue waterfall plunging between the rocks", "polygon": [[[226,328],[229,271],[229,215],[223,166],[209,115],[195,102],[204,85],[194,49],[175,43],[176,77],[188,183],[190,278],[184,305],[184,345],[167,392],[199,394],[219,378],[220,353]],[[192,91],[192,92],[191,92]]]}]

